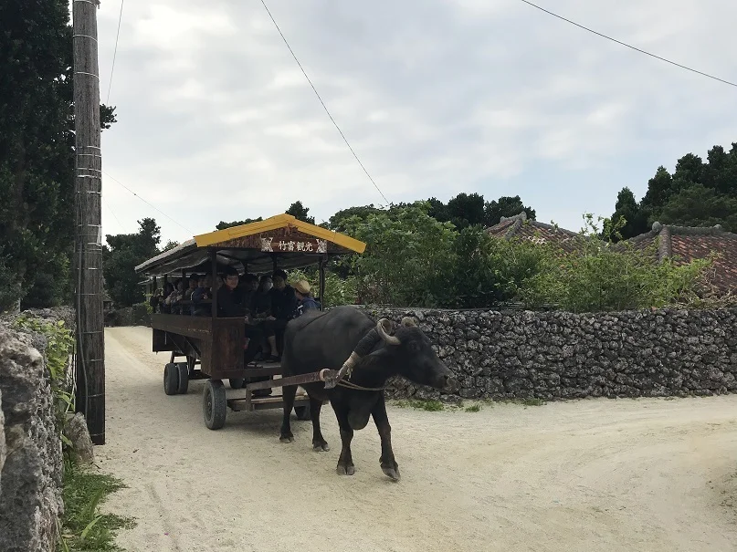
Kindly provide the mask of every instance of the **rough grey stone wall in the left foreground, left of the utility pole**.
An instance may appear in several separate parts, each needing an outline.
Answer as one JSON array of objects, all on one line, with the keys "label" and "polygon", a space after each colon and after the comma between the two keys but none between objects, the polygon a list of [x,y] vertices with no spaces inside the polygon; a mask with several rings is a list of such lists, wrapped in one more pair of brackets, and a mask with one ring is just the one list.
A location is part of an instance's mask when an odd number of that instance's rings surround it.
[{"label": "rough grey stone wall in the left foreground, left of the utility pole", "polygon": [[[59,311],[35,314],[69,318]],[[63,460],[46,340],[11,330],[7,322],[0,320],[0,550],[53,550],[63,512]]]}]

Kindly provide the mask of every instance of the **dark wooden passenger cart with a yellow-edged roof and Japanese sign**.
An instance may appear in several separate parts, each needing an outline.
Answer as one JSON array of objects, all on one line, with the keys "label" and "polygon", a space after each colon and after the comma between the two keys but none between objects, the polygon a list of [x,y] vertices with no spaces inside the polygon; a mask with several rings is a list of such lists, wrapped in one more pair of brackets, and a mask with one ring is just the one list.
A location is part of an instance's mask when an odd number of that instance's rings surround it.
[{"label": "dark wooden passenger cart with a yellow-edged roof and Japanese sign", "polygon": [[[215,286],[217,277],[228,266],[235,267],[241,275],[262,275],[277,268],[289,270],[318,265],[321,298],[325,293],[326,261],[334,255],[362,254],[364,250],[365,244],[347,235],[280,214],[263,222],[196,235],[136,266],[136,272],[150,278],[154,287],[159,277],[163,277],[165,284],[170,276],[185,278],[204,273],[212,275]],[[218,318],[216,313],[217,297],[213,294],[209,316],[155,313],[151,317],[153,351],[171,352],[163,370],[164,392],[184,394],[189,381],[207,380],[203,390],[203,415],[208,428],[223,427],[228,408],[257,411],[283,407],[281,395],[254,397],[253,391],[257,389],[321,380],[319,372],[280,379],[278,364],[245,366],[244,318]],[[264,376],[270,379],[244,386],[244,380]],[[229,387],[236,391],[232,396],[226,394],[223,380],[229,380]],[[297,395],[295,411],[300,419],[309,417],[309,399],[304,393]]]}]

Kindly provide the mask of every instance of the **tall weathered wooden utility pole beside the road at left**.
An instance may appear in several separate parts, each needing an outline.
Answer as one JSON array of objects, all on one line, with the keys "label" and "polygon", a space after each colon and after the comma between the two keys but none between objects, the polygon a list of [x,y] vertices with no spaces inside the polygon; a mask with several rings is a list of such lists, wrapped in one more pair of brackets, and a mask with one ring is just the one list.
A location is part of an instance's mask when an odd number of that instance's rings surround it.
[{"label": "tall weathered wooden utility pole beside the road at left", "polygon": [[102,155],[97,10],[73,0],[75,130],[75,288],[77,411],[92,443],[105,444],[105,334],[102,318]]}]

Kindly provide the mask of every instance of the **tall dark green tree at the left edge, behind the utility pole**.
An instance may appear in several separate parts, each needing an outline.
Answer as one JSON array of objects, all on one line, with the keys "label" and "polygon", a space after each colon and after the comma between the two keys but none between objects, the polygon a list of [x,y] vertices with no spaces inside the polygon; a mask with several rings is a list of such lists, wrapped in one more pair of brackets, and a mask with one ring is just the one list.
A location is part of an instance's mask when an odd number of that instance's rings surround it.
[{"label": "tall dark green tree at the left edge, behind the utility pole", "polygon": [[[66,0],[0,3],[0,259],[30,306],[71,295],[72,29]],[[114,109],[100,106],[102,128]],[[53,282],[53,286],[51,283]],[[7,296],[6,296],[7,297]]]}]

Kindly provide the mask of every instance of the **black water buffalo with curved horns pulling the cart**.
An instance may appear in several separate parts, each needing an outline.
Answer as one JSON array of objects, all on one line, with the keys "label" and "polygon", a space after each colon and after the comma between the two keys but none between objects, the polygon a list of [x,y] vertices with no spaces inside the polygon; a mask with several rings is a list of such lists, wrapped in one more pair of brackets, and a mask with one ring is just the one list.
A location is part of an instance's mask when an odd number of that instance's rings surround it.
[{"label": "black water buffalo with curved horns pulling the cart", "polygon": [[[443,389],[452,375],[431,348],[430,340],[411,319],[405,318],[394,332],[391,329],[386,320],[377,324],[354,307],[308,313],[287,325],[281,358],[285,377],[322,369],[351,369],[350,376],[332,389],[326,389],[323,382],[302,386],[310,396],[312,446],[316,451],[330,450],[320,429],[323,402],[330,401],[335,411],[342,441],[338,474],[355,473],[351,456],[353,432],[363,429],[369,416],[373,416],[381,437],[381,468],[384,474],[398,481],[399,467],[392,450],[392,428],[384,402],[386,380],[399,374],[416,383]],[[284,387],[283,391],[280,441],[290,443],[294,441],[290,413],[297,387]]]}]

